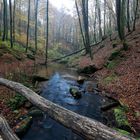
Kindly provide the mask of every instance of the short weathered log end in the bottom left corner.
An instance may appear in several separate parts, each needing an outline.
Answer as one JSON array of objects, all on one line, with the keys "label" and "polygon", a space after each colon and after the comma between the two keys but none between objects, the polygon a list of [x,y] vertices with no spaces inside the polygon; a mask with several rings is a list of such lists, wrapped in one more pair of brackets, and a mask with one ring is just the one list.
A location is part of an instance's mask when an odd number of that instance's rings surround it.
[{"label": "short weathered log end in the bottom left corner", "polygon": [[19,138],[14,134],[14,132],[9,127],[6,119],[0,115],[0,131],[4,135],[2,137],[4,140],[19,140]]}]

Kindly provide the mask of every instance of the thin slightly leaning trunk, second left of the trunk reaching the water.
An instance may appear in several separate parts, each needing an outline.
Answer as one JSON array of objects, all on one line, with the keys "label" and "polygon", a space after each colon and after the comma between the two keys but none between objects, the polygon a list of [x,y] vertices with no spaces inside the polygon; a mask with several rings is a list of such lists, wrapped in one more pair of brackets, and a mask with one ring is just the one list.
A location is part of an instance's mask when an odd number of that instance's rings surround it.
[{"label": "thin slightly leaning trunk, second left of the trunk reaching the water", "polygon": [[28,50],[29,46],[29,30],[30,30],[30,5],[31,5],[31,0],[28,1],[28,23],[27,23],[27,40],[26,40],[26,52]]}]

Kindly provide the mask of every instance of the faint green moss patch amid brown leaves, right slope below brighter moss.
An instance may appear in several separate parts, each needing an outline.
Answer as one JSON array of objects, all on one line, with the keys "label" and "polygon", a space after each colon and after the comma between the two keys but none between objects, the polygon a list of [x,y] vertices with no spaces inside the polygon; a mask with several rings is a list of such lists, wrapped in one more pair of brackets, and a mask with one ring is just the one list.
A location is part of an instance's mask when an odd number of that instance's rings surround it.
[{"label": "faint green moss patch amid brown leaves, right slope below brighter moss", "polygon": [[103,79],[103,83],[104,83],[105,85],[108,85],[108,84],[110,84],[111,82],[113,82],[113,81],[115,81],[115,80],[117,80],[117,79],[118,79],[118,76],[117,76],[116,74],[113,73],[112,75],[110,75],[110,76],[104,78],[104,79]]}]

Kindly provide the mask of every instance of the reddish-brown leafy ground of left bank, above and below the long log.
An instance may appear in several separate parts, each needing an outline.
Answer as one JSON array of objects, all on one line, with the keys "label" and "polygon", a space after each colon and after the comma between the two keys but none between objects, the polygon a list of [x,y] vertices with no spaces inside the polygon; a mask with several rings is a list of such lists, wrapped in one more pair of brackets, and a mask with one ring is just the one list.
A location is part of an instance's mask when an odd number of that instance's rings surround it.
[{"label": "reddish-brown leafy ground of left bank, above and below the long log", "polygon": [[[34,61],[28,59],[22,50],[10,49],[8,44],[0,43],[0,77],[7,78],[32,88],[32,81],[29,76],[34,73]],[[8,102],[13,99],[16,93],[4,86],[0,86],[0,114],[2,114],[10,124],[15,126],[16,119],[26,113],[25,108],[20,108],[17,112],[11,109]],[[16,101],[21,103],[20,101]],[[16,110],[16,109],[15,109]]]}]

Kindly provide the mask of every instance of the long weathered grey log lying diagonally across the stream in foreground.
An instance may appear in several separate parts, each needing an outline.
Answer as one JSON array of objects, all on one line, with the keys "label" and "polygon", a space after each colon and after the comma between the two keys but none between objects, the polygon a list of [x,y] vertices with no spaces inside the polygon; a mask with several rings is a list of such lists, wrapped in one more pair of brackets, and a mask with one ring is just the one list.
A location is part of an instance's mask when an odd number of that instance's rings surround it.
[{"label": "long weathered grey log lying diagonally across the stream in foreground", "polygon": [[0,78],[0,84],[22,94],[51,118],[87,140],[134,140],[134,138],[123,136],[94,119],[81,116],[46,100],[20,83]]}]

